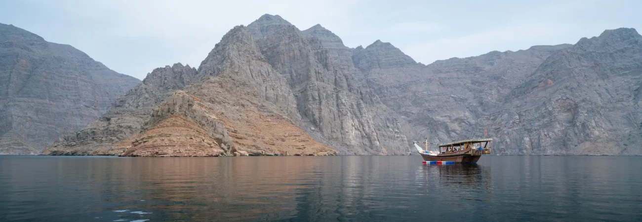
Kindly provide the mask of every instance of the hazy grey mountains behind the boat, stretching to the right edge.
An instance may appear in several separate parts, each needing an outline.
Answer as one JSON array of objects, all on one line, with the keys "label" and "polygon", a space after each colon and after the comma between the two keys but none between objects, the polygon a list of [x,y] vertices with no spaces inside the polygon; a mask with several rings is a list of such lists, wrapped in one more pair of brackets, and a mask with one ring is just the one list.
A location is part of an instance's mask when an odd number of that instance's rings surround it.
[{"label": "hazy grey mountains behind the boat, stretching to the right edge", "polygon": [[493,51],[422,65],[380,41],[356,66],[408,137],[496,139],[501,155],[640,155],[640,35],[607,30],[577,44]]}]

